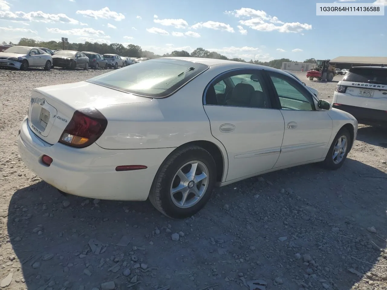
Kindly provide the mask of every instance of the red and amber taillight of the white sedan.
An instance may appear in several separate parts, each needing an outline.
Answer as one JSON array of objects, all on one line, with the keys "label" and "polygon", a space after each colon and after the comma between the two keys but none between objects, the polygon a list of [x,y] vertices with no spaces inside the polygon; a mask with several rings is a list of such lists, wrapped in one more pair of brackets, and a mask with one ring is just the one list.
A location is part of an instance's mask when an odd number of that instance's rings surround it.
[{"label": "red and amber taillight of the white sedan", "polygon": [[108,120],[95,108],[75,111],[59,142],[78,148],[87,147],[96,142],[107,125]]}]

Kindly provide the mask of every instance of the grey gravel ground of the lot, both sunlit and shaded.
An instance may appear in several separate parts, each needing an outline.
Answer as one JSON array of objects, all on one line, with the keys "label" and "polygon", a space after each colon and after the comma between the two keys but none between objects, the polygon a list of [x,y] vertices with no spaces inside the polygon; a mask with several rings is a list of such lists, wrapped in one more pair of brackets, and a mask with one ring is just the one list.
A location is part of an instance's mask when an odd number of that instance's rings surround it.
[{"label": "grey gravel ground of the lot, both sunlit and shaded", "polygon": [[[103,72],[0,70],[0,287],[387,289],[387,135],[372,127],[338,171],[305,165],[217,188],[187,220],[41,181],[17,152],[31,89]],[[341,78],[298,74],[327,100]]]}]

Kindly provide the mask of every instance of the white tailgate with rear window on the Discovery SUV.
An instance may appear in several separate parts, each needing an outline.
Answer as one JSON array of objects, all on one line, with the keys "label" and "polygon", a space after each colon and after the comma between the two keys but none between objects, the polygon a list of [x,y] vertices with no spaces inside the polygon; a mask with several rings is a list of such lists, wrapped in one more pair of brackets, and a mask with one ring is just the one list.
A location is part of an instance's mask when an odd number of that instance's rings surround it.
[{"label": "white tailgate with rear window on the Discovery SUV", "polygon": [[353,67],[340,85],[346,88],[337,94],[337,103],[387,111],[386,67]]}]

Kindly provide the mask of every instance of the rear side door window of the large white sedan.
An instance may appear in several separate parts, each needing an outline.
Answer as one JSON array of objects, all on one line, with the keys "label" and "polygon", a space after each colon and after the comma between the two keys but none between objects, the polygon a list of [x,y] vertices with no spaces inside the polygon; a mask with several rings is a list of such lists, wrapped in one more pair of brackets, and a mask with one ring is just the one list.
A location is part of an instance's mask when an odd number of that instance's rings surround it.
[{"label": "rear side door window of the large white sedan", "polygon": [[205,104],[233,107],[272,108],[271,100],[258,70],[226,73],[207,87]]}]

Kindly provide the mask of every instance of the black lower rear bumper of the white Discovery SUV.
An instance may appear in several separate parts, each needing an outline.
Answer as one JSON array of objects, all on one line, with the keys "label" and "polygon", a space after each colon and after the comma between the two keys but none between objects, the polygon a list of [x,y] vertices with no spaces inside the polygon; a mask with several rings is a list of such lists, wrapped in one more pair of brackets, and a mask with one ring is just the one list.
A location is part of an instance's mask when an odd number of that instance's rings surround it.
[{"label": "black lower rear bumper of the white Discovery SUV", "polygon": [[332,105],[332,107],[345,111],[354,116],[358,123],[364,125],[387,125],[387,112],[349,105]]}]

